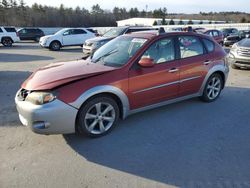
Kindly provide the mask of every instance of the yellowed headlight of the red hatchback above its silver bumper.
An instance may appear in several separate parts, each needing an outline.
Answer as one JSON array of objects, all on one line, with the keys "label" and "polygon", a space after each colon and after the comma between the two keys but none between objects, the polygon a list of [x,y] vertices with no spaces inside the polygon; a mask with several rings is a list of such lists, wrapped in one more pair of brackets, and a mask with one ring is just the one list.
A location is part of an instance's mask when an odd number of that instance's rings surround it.
[{"label": "yellowed headlight of the red hatchback above its silver bumper", "polygon": [[29,101],[36,105],[42,105],[55,100],[56,96],[49,92],[32,92],[26,97],[26,101]]}]

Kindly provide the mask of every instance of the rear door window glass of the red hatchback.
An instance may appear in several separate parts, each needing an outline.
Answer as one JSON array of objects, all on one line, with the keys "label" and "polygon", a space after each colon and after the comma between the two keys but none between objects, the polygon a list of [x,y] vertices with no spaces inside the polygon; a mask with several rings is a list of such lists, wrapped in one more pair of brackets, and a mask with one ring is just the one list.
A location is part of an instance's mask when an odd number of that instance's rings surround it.
[{"label": "rear door window glass of the red hatchback", "polygon": [[181,58],[194,57],[204,54],[204,48],[199,38],[194,36],[180,36],[178,40]]}]

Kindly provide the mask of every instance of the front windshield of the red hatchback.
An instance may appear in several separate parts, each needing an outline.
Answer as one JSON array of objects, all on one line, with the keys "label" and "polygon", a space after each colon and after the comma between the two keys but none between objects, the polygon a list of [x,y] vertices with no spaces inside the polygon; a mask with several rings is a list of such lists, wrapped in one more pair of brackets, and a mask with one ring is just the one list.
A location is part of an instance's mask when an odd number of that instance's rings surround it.
[{"label": "front windshield of the red hatchback", "polygon": [[147,39],[120,36],[99,48],[91,58],[93,63],[121,67],[145,44]]}]

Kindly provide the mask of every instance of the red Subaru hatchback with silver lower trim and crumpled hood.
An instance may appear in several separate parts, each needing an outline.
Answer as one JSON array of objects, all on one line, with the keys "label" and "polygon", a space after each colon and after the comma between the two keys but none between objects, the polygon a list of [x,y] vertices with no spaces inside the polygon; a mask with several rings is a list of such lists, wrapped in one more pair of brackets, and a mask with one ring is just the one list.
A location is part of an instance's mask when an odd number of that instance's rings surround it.
[{"label": "red Subaru hatchback with silver lower trim and crumpled hood", "polygon": [[36,133],[101,136],[135,112],[191,97],[216,100],[229,72],[225,56],[206,35],[123,35],[87,60],[38,69],[15,102],[22,124]]}]

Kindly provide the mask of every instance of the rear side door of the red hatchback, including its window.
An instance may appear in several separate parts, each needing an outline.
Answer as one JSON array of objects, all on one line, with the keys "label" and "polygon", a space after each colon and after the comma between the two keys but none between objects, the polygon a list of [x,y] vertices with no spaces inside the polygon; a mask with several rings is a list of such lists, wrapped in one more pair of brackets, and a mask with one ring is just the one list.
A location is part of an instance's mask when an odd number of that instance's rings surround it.
[{"label": "rear side door of the red hatchback, including its window", "polygon": [[196,36],[179,36],[180,96],[197,93],[211,63],[202,41]]}]

